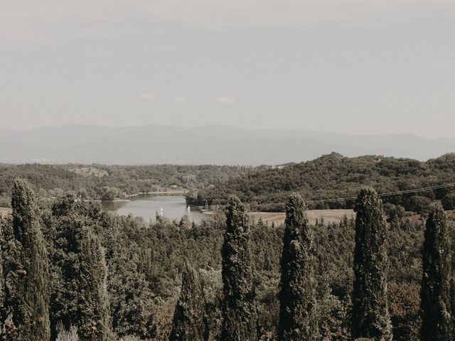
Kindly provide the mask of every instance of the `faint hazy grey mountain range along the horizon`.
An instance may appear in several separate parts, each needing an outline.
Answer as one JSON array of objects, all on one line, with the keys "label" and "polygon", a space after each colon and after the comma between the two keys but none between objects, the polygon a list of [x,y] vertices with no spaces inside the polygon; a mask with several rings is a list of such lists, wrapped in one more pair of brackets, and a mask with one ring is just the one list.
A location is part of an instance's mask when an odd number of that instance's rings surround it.
[{"label": "faint hazy grey mountain range along the horizon", "polygon": [[455,139],[412,134],[348,135],[230,126],[68,124],[30,131],[0,130],[1,163],[260,165],[308,161],[335,151],[420,161],[455,151]]}]

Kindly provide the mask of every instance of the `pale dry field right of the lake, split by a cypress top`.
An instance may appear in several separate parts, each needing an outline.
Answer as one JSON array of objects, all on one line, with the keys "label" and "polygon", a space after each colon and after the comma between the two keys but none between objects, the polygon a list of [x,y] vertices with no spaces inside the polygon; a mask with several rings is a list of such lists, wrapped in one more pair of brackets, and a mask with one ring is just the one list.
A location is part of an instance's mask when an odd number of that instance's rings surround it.
[{"label": "pale dry field right of the lake, split by a cypress top", "polygon": [[[343,220],[345,215],[348,219],[350,219],[352,215],[355,215],[353,210],[309,210],[306,211],[306,214],[308,215],[308,219],[311,224],[316,223],[316,219],[320,221],[321,217],[323,217],[324,223],[326,224],[328,222],[340,222],[340,220]],[[262,218],[263,222],[282,224],[284,223],[286,213],[250,212],[250,217],[254,218],[256,221],[259,220],[259,218]]]}]

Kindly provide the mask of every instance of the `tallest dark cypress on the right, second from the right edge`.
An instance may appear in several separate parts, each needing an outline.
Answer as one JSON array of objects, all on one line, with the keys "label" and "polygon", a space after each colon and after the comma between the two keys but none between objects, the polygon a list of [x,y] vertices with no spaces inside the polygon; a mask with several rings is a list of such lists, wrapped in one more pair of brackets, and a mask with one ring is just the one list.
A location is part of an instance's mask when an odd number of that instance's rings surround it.
[{"label": "tallest dark cypress on the right, second from the right edge", "polygon": [[382,200],[372,188],[364,188],[355,203],[354,283],[351,334],[392,340],[387,305],[387,224]]}]

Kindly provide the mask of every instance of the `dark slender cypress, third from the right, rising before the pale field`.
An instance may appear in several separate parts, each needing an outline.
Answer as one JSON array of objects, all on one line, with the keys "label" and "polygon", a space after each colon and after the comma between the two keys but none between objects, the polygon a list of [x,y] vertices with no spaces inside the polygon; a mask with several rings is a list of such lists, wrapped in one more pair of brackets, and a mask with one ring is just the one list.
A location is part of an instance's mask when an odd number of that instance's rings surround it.
[{"label": "dark slender cypress, third from the right, rising before the pale field", "polygon": [[317,340],[314,247],[306,207],[300,195],[286,203],[278,339]]}]

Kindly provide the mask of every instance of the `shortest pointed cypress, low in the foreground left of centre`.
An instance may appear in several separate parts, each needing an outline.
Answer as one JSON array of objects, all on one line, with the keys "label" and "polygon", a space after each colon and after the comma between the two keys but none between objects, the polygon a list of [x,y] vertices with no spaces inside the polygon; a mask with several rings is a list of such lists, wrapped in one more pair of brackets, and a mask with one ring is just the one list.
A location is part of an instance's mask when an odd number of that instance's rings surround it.
[{"label": "shortest pointed cypress, low in the foreground left of centre", "polygon": [[169,341],[204,340],[204,297],[198,272],[186,264]]}]

